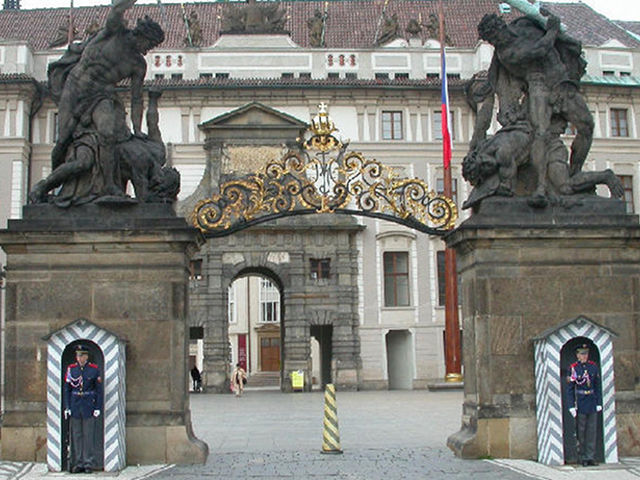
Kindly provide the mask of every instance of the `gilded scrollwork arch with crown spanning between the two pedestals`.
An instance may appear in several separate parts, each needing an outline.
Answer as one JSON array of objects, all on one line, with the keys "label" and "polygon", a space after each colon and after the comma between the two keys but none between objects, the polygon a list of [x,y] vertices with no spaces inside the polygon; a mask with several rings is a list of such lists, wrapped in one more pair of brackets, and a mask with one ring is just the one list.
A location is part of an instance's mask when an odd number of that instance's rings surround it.
[{"label": "gilded scrollwork arch with crown spanning between the two pedestals", "polygon": [[348,152],[321,104],[302,149],[269,162],[263,171],[223,183],[200,201],[194,226],[224,236],[267,220],[310,213],[346,213],[394,221],[430,234],[453,228],[458,216],[450,198],[418,178],[402,178],[377,160]]}]

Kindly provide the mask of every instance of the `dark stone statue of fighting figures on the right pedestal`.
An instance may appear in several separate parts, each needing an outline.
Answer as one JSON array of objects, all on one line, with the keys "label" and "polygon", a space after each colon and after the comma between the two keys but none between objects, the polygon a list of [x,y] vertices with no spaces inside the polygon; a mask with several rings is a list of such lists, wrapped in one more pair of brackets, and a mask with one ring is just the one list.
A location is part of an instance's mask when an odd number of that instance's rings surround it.
[{"label": "dark stone statue of fighting figures on the right pedestal", "polygon": [[[530,195],[529,204],[538,208],[568,206],[577,201],[568,197],[593,193],[600,183],[614,197],[624,194],[610,170],[582,172],[594,128],[580,93],[582,46],[560,31],[559,18],[540,13],[546,27],[529,17],[507,25],[495,14],[478,25],[480,38],[495,51],[488,74],[474,77],[467,89],[478,115],[463,162],[463,175],[475,188],[463,208],[493,195]],[[502,128],[487,138],[496,96]],[[569,123],[576,131],[570,154],[560,139]]]}]

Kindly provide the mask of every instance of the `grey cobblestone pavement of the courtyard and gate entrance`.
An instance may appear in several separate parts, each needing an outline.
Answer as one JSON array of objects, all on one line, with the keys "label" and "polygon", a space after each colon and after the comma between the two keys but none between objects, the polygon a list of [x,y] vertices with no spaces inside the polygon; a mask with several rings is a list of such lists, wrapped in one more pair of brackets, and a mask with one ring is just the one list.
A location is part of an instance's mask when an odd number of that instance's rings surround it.
[{"label": "grey cobblestone pavement of the courtyard and gate entrance", "polygon": [[460,460],[446,448],[460,425],[462,392],[338,392],[343,454],[323,455],[323,396],[247,391],[192,394],[194,431],[209,444],[205,465],[127,467],[119,474],[48,473],[44,464],[0,462],[0,480],[70,477],[329,480],[638,480],[640,459],[577,468],[526,460]]}]

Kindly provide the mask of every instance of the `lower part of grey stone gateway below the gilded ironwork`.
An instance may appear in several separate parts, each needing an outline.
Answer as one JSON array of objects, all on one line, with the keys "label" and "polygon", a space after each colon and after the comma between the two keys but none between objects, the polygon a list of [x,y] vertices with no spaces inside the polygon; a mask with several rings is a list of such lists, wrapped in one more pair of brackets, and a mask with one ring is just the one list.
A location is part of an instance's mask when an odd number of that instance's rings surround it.
[{"label": "lower part of grey stone gateway below the gilded ironwork", "polygon": [[[355,237],[361,229],[350,217],[326,216],[315,226],[289,220],[208,240],[200,254],[208,281],[192,293],[191,302],[192,316],[206,318],[206,389],[228,391],[227,288],[247,273],[275,279],[282,293],[282,389],[291,389],[289,375],[297,370],[305,372],[305,388],[311,389],[311,326],[318,322],[318,311],[331,312],[334,383],[343,389],[358,388],[361,361]],[[328,260],[328,278],[312,275],[311,260],[316,258]]]}]

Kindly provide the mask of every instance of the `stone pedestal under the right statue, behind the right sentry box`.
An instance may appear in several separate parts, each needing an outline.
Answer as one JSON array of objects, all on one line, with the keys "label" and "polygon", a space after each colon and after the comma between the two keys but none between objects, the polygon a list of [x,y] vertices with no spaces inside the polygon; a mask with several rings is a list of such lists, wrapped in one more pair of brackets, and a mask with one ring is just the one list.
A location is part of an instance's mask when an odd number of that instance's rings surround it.
[{"label": "stone pedestal under the right statue, behind the right sentry box", "polygon": [[464,329],[462,428],[447,442],[456,455],[537,458],[533,339],[578,316],[619,335],[618,451],[638,455],[637,216],[609,199],[532,210],[524,199],[490,198],[446,241],[457,252]]}]

